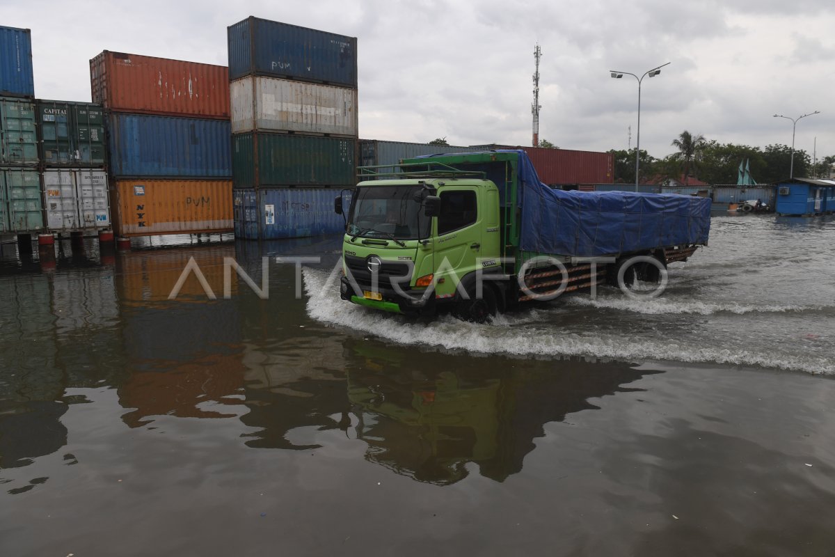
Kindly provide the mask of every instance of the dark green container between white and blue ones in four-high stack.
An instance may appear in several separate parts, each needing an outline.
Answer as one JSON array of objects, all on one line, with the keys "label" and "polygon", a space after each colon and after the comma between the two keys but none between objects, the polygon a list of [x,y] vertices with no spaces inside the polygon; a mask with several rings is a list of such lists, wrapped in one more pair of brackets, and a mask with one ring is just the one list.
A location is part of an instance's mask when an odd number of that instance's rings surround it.
[{"label": "dark green container between white and blue ones in four-high stack", "polygon": [[235,188],[354,184],[356,139],[296,134],[232,136]]}]

